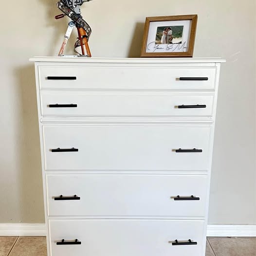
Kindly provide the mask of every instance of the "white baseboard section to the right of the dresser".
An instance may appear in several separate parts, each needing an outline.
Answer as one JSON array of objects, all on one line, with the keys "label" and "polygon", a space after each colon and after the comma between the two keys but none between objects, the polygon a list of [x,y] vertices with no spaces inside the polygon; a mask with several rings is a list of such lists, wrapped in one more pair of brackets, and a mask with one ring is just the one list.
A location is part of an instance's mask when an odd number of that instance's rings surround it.
[{"label": "white baseboard section to the right of the dresser", "polygon": [[207,237],[256,237],[254,225],[208,224]]}]

